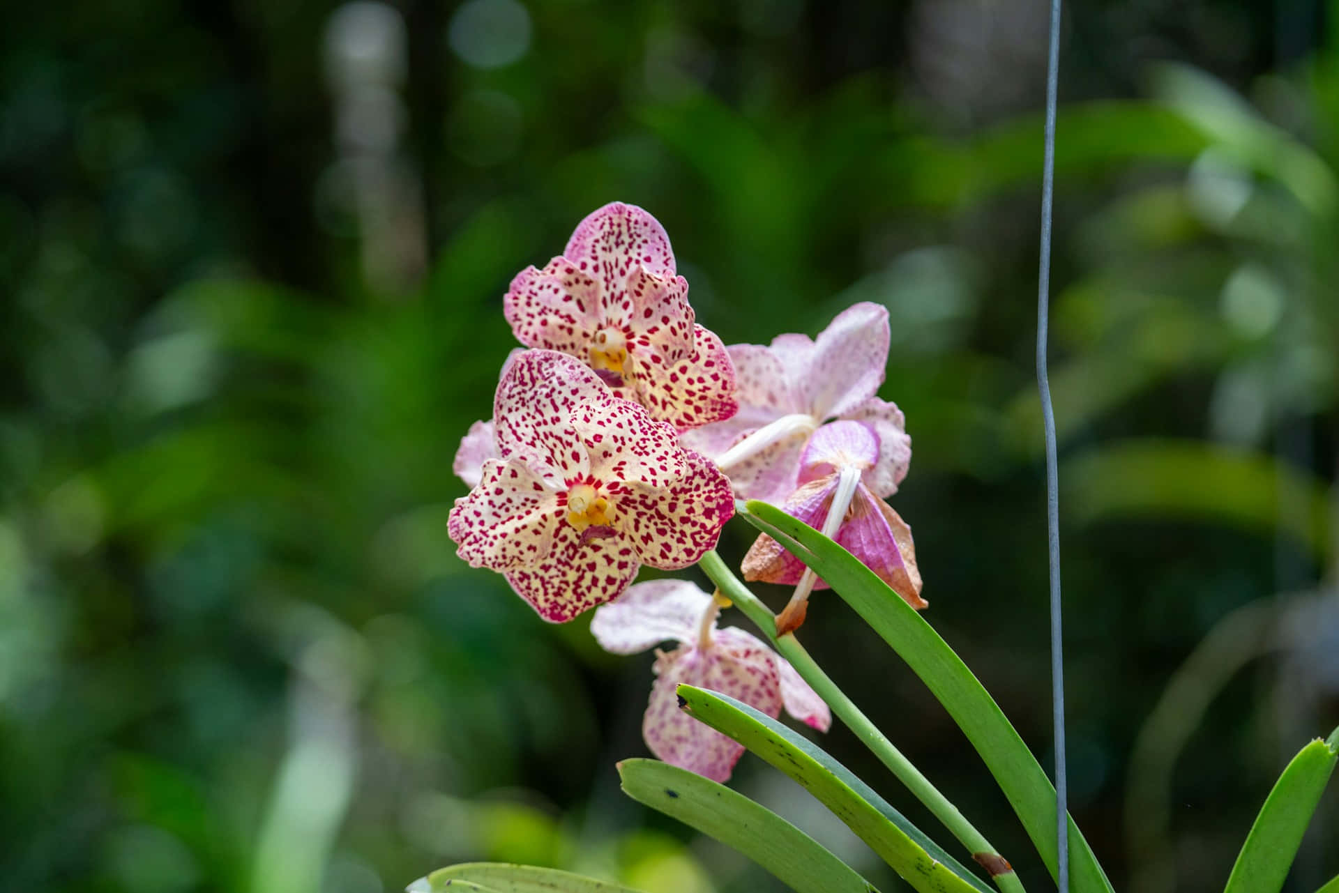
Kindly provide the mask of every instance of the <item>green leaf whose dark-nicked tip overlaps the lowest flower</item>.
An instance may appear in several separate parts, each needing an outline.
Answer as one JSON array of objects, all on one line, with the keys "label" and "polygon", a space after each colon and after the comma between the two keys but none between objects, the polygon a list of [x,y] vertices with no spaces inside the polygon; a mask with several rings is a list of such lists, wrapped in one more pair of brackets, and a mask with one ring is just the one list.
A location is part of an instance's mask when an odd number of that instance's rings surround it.
[{"label": "green leaf whose dark-nicked tip overlaps the lowest flower", "polygon": [[921,893],[994,893],[850,770],[771,716],[683,684],[679,706],[799,782]]}]

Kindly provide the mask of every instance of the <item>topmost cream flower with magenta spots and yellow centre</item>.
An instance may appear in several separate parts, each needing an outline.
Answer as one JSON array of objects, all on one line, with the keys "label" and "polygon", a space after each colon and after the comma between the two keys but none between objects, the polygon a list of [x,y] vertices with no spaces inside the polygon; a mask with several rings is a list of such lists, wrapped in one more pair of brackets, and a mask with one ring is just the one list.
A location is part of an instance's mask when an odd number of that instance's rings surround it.
[{"label": "topmost cream flower with magenta spots and yellow centre", "polygon": [[582,220],[560,257],[511,280],[503,309],[522,344],[582,360],[653,419],[686,431],[735,414],[730,355],[696,324],[670,237],[640,208]]}]

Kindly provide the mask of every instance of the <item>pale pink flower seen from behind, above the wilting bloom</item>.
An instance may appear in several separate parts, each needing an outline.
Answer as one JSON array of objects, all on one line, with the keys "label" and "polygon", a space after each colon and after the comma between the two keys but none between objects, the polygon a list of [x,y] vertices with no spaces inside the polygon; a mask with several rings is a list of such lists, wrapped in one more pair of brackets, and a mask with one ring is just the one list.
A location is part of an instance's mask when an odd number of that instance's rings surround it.
[{"label": "pale pink flower seen from behind, above the wilting bloom", "polygon": [[740,497],[781,505],[799,483],[810,435],[829,419],[853,419],[878,440],[866,486],[890,497],[907,477],[912,442],[897,406],[874,396],[888,344],[888,309],[870,303],[838,313],[813,340],[782,335],[770,347],[734,344],[739,411],[686,432],[684,446],[715,459]]}]

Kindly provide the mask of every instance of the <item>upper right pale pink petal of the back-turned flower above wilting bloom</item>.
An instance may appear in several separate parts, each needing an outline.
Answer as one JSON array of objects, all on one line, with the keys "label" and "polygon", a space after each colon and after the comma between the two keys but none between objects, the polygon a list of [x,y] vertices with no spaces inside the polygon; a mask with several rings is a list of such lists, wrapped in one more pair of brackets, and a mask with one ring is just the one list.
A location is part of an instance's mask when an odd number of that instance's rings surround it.
[{"label": "upper right pale pink petal of the back-turned flower above wilting bloom", "polygon": [[[803,360],[795,349],[798,343],[783,341],[787,337],[777,339],[782,341],[782,363],[817,419],[846,415],[884,383],[889,329],[882,304],[862,301],[838,313]],[[773,349],[778,349],[777,341]],[[787,357],[794,357],[794,364]]]}]

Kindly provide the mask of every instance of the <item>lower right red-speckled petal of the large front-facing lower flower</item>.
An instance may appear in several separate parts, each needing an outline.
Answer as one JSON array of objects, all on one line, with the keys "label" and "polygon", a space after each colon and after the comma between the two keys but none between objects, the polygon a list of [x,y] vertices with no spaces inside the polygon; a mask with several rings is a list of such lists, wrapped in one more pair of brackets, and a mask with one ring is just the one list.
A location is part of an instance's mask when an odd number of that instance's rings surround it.
[{"label": "lower right red-speckled petal of the large front-facing lower flower", "polygon": [[661,570],[696,564],[715,548],[720,527],[735,513],[735,497],[720,469],[691,450],[683,455],[688,470],[679,481],[660,487],[629,481],[609,499],[637,557]]}]

